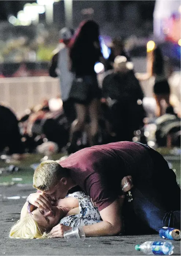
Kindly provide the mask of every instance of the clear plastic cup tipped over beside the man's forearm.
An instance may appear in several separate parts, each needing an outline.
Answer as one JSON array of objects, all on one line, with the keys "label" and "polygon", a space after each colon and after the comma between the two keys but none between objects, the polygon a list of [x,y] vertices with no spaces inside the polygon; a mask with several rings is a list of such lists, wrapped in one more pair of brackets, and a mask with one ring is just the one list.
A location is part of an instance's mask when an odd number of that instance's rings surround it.
[{"label": "clear plastic cup tipped over beside the man's forearm", "polygon": [[63,234],[66,241],[84,241],[85,233],[81,226],[73,227]]}]

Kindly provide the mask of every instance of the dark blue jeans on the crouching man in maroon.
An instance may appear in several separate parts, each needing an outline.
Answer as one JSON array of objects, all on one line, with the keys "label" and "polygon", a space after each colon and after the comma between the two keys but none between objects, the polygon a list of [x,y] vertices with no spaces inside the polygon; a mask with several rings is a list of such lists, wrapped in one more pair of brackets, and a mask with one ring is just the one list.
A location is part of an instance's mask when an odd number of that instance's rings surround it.
[{"label": "dark blue jeans on the crouching man in maroon", "polygon": [[155,233],[164,226],[180,229],[181,225],[181,194],[176,175],[158,152],[146,147],[154,163],[152,177],[147,183],[137,180],[131,190],[133,201],[125,200],[126,234]]}]

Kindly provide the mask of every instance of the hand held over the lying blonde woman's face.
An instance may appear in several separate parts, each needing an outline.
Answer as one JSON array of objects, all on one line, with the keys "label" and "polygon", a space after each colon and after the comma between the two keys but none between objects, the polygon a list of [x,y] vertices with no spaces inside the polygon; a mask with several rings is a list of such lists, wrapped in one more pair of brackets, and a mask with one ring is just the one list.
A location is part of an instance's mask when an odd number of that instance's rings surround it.
[{"label": "hand held over the lying blonde woman's face", "polygon": [[52,209],[50,198],[43,192],[30,194],[27,200],[37,208],[43,208],[46,211],[51,211]]}]

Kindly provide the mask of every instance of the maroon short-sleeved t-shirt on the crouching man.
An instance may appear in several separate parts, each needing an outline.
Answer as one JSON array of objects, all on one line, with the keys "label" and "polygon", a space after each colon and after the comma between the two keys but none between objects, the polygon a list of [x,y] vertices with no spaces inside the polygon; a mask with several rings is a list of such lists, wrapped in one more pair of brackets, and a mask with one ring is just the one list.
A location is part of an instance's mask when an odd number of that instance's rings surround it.
[{"label": "maroon short-sleeved t-shirt on the crouching man", "polygon": [[87,193],[101,211],[122,194],[124,176],[133,183],[149,176],[152,167],[148,149],[135,142],[115,142],[88,147],[59,162],[70,170],[71,178]]}]

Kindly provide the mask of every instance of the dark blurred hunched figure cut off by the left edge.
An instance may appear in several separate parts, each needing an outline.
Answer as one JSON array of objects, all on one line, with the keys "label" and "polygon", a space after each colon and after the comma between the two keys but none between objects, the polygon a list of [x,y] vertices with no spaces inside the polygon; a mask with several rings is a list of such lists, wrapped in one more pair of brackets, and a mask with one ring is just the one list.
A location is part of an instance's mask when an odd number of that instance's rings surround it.
[{"label": "dark blurred hunched figure cut off by the left edge", "polygon": [[8,147],[8,154],[25,153],[21,134],[19,132],[18,120],[15,114],[5,106],[0,105],[0,152]]}]

